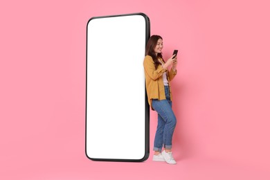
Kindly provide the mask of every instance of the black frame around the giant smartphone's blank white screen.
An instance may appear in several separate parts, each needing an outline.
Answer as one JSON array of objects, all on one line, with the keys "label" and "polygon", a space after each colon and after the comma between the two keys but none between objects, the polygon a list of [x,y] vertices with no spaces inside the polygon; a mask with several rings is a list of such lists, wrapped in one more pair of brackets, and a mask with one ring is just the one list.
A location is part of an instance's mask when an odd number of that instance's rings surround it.
[{"label": "black frame around the giant smartphone's blank white screen", "polygon": [[[100,18],[108,18],[108,17],[123,17],[123,16],[132,16],[132,15],[141,15],[145,19],[145,46],[147,44],[148,39],[150,38],[150,19],[142,12],[125,14],[125,15],[109,15],[109,16],[101,16],[101,17],[92,17],[87,22],[87,44],[86,44],[86,102],[85,102],[85,154],[88,159],[93,161],[122,161],[122,162],[142,162],[148,159],[150,154],[150,106],[147,102],[147,93],[145,87],[145,156],[142,159],[100,159],[100,158],[92,158],[87,155],[87,47],[88,47],[88,24],[93,19]],[[142,64],[143,66],[143,64]]]}]

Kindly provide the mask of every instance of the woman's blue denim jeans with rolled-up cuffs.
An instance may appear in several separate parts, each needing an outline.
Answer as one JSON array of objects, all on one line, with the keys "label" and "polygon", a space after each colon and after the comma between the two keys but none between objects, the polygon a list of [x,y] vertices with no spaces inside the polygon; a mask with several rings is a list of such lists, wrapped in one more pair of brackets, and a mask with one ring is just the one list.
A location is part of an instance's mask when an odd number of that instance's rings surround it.
[{"label": "woman's blue denim jeans with rolled-up cuffs", "polygon": [[172,148],[172,134],[174,133],[177,118],[172,111],[169,87],[165,86],[165,100],[152,99],[152,107],[158,113],[158,125],[154,137],[154,151],[161,152],[162,146]]}]

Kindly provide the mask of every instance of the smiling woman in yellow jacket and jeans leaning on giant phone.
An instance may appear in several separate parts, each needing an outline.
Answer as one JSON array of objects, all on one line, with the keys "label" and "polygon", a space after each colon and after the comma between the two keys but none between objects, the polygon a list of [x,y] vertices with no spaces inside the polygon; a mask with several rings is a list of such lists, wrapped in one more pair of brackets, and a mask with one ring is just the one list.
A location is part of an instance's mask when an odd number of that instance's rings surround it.
[{"label": "smiling woman in yellow jacket and jeans leaning on giant phone", "polygon": [[[177,74],[177,57],[173,55],[167,62],[164,62],[162,48],[162,37],[152,35],[147,42],[145,60],[143,61],[148,103],[151,109],[158,113],[153,161],[176,164],[177,162],[172,156],[172,134],[177,119],[172,111],[170,81]],[[169,71],[168,67],[171,65]],[[162,147],[165,150],[162,151]]]}]

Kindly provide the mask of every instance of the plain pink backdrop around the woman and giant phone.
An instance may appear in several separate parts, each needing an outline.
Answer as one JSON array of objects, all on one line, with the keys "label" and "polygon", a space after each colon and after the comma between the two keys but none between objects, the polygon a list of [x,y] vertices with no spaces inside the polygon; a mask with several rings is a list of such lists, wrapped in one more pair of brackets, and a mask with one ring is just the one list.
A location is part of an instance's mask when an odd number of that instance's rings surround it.
[{"label": "plain pink backdrop around the woman and giant phone", "polygon": [[[0,179],[270,179],[269,8],[267,0],[1,1]],[[177,165],[152,162],[152,151],[143,163],[84,154],[87,21],[132,12],[150,17],[165,58],[179,49]],[[150,125],[152,150],[154,111]]]}]

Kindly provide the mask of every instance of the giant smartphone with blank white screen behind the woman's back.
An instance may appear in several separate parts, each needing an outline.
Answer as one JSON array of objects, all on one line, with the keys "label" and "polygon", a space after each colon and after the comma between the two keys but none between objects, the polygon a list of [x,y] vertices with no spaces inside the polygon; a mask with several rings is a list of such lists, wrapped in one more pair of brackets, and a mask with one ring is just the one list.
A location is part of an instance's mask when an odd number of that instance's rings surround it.
[{"label": "giant smartphone with blank white screen behind the woman's back", "polygon": [[149,105],[143,60],[150,20],[143,13],[87,24],[86,154],[96,161],[145,161]]}]

